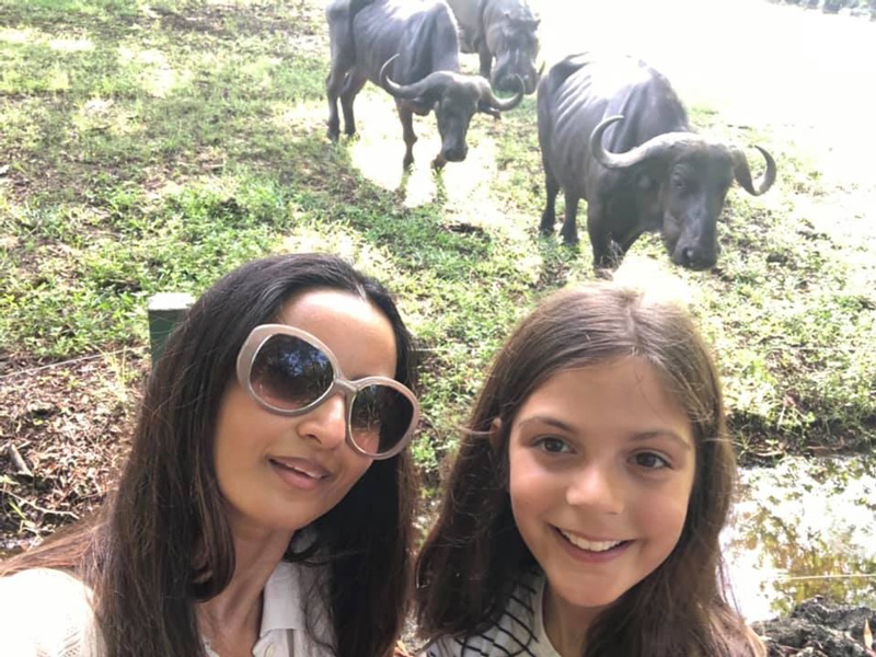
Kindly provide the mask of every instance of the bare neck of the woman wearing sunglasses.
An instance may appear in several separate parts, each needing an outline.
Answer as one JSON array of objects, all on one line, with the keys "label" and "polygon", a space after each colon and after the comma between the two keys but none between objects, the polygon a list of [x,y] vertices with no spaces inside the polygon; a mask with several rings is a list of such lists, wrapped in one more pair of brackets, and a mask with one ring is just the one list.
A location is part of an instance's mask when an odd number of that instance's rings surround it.
[{"label": "bare neck of the woman wearing sunglasses", "polygon": [[252,655],[262,619],[262,593],[291,532],[256,535],[234,528],[234,574],[215,598],[197,606],[198,629],[221,657]]}]

